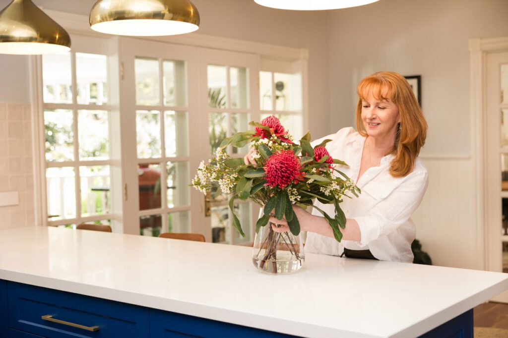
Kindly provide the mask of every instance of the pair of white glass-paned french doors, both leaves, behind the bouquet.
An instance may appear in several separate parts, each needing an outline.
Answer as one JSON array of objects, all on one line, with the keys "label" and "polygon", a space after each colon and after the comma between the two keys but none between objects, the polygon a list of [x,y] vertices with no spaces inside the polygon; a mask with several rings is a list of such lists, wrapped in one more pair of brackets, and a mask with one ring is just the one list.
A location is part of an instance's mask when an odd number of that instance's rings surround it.
[{"label": "pair of white glass-paned french doors, both leaves, behind the bouquet", "polygon": [[[227,196],[203,196],[188,184],[224,138],[259,120],[259,57],[131,38],[119,39],[119,55],[124,233],[251,242],[250,203],[235,203],[240,238]],[[247,148],[227,151],[243,157]]]}]

